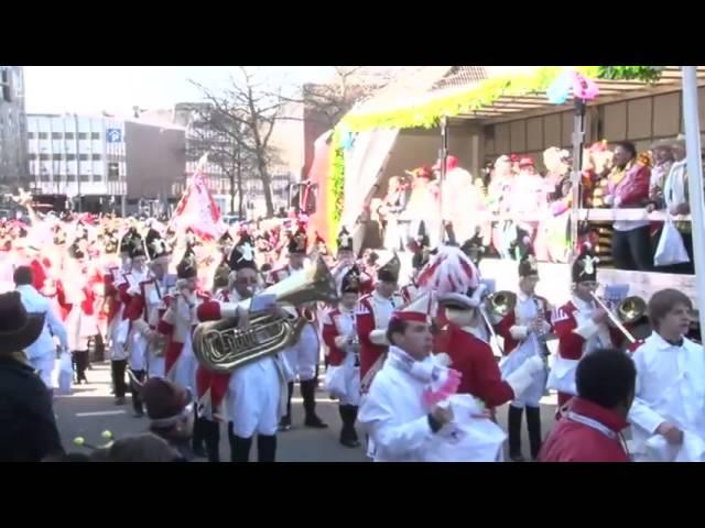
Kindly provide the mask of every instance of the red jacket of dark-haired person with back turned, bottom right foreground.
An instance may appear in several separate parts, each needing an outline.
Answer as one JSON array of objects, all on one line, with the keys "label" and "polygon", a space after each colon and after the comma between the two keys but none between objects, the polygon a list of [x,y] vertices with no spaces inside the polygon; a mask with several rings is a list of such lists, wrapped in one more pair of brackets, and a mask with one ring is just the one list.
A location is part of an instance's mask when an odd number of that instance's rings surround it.
[{"label": "red jacket of dark-haired person with back turned, bottom right foreground", "polygon": [[599,422],[606,430],[564,417],[543,443],[540,462],[629,462],[619,436],[628,426],[623,418],[577,397],[571,411]]}]

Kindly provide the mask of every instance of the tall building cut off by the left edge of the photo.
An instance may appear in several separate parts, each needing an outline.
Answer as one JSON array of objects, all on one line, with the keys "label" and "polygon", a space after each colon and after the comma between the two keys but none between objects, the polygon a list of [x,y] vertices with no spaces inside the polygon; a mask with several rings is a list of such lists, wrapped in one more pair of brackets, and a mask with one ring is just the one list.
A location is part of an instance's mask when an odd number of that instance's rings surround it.
[{"label": "tall building cut off by the left edge of the photo", "polygon": [[14,193],[30,185],[24,113],[24,69],[0,66],[0,187]]}]

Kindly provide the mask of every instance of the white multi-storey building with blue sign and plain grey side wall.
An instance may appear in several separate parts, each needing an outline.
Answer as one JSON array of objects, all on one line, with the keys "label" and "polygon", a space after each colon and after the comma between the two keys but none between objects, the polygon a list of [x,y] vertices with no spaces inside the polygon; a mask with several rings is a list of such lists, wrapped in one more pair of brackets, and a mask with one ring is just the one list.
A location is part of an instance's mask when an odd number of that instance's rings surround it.
[{"label": "white multi-storey building with blue sign and plain grey side wall", "polygon": [[77,114],[29,114],[26,123],[33,193],[66,195],[87,210],[166,202],[184,173],[183,130]]}]

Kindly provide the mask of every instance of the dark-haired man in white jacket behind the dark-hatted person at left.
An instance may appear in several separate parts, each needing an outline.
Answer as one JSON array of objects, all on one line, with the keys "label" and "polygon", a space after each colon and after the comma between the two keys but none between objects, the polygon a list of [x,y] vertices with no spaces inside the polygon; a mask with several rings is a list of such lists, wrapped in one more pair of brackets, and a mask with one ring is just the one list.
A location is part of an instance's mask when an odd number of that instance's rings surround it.
[{"label": "dark-haired man in white jacket behind the dark-hatted person at left", "polygon": [[53,337],[56,336],[62,349],[67,350],[66,329],[54,312],[50,300],[32,286],[33,275],[31,267],[18,267],[14,271],[13,279],[17,290],[22,298],[24,309],[29,314],[45,314],[42,333],[36,341],[25,349],[25,353],[30,363],[34,370],[39,372],[40,377],[51,392],[53,389],[52,372],[54,371],[54,363],[56,361],[56,344],[54,343]]}]

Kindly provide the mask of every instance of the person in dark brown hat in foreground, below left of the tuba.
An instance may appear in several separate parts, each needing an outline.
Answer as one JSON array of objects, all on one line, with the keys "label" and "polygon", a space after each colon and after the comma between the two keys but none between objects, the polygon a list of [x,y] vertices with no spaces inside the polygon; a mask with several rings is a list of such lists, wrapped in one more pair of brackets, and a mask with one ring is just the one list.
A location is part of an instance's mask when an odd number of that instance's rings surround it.
[{"label": "person in dark brown hat in foreground, below left of the tuba", "polygon": [[191,460],[193,435],[192,395],[184,387],[160,377],[149,378],[140,389],[150,418],[150,432],[163,438],[181,455]]}]

